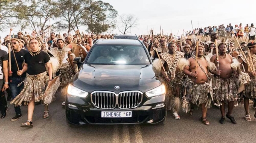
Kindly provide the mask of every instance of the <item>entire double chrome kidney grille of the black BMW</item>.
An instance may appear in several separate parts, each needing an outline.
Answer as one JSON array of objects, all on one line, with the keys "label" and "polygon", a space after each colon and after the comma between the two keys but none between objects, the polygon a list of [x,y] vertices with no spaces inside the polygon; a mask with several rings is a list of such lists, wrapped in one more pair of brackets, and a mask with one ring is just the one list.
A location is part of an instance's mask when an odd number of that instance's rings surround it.
[{"label": "entire double chrome kidney grille of the black BMW", "polygon": [[95,91],[91,94],[91,101],[96,108],[114,109],[118,105],[119,109],[136,108],[142,102],[140,91],[127,91],[119,94],[108,91]]}]

